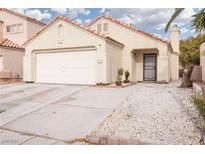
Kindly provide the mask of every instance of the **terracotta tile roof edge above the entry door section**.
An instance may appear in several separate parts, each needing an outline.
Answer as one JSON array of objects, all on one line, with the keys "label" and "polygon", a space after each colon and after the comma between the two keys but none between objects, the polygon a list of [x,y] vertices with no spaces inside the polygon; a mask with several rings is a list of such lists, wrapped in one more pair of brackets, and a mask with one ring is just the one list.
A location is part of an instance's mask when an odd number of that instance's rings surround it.
[{"label": "terracotta tile roof edge above the entry door section", "polygon": [[108,20],[110,20],[110,21],[112,21],[112,22],[115,22],[115,23],[117,23],[117,24],[119,24],[119,25],[122,25],[122,26],[124,26],[124,27],[126,27],[126,28],[128,28],[128,29],[130,29],[130,30],[133,30],[133,31],[135,31],[135,32],[142,33],[142,34],[144,34],[144,35],[146,35],[146,36],[149,36],[149,37],[151,37],[151,38],[153,38],[153,39],[159,40],[159,41],[164,42],[164,43],[166,43],[166,44],[169,44],[169,43],[170,43],[169,41],[164,40],[164,39],[162,39],[162,38],[160,38],[160,37],[158,37],[158,36],[156,36],[156,35],[154,35],[154,34],[152,34],[152,33],[145,32],[145,31],[143,31],[143,30],[141,30],[141,29],[138,29],[138,28],[136,28],[136,27],[134,27],[134,26],[132,26],[132,25],[126,24],[125,22],[123,22],[123,21],[121,21],[121,20],[115,19],[115,18],[113,18],[113,17],[111,17],[111,16],[99,16],[99,17],[95,18],[93,21],[91,21],[91,22],[87,25],[87,27],[89,27],[90,25],[92,25],[94,22],[96,22],[97,20],[99,20],[99,19],[101,19],[101,18],[108,19]]}]

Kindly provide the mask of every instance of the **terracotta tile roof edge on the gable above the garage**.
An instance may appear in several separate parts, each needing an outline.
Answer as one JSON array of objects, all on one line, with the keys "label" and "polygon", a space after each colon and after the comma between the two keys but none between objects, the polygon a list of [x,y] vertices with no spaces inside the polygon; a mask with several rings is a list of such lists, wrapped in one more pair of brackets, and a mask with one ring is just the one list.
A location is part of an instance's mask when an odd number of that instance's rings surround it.
[{"label": "terracotta tile roof edge on the gable above the garage", "polygon": [[122,44],[122,43],[120,43],[120,42],[118,42],[118,41],[112,39],[111,37],[107,37],[107,36],[105,36],[105,35],[102,34],[102,33],[98,33],[98,32],[96,32],[95,30],[93,30],[93,29],[91,29],[91,28],[89,28],[89,27],[84,27],[84,26],[81,25],[79,22],[74,21],[74,20],[72,20],[72,19],[70,19],[70,18],[67,18],[67,17],[64,17],[64,16],[58,16],[58,17],[56,17],[56,18],[55,18],[53,21],[51,21],[48,25],[44,26],[44,27],[43,27],[38,33],[36,33],[32,38],[30,38],[29,40],[27,40],[27,41],[23,44],[23,46],[25,46],[28,42],[30,42],[31,40],[33,40],[36,36],[38,36],[40,33],[42,33],[47,27],[49,27],[51,24],[53,24],[53,23],[54,23],[56,20],[58,20],[58,19],[62,19],[63,21],[66,21],[66,22],[71,23],[71,24],[73,24],[73,25],[75,25],[75,26],[78,26],[78,27],[80,27],[80,28],[82,28],[82,29],[84,29],[84,30],[86,30],[86,31],[88,31],[88,32],[90,32],[90,33],[92,33],[92,34],[94,34],[94,35],[97,35],[97,36],[102,37],[102,38],[104,38],[104,39],[107,39],[107,40],[113,41],[113,42],[115,42],[115,43],[118,43],[118,44],[121,45],[121,46],[124,46],[124,44]]}]

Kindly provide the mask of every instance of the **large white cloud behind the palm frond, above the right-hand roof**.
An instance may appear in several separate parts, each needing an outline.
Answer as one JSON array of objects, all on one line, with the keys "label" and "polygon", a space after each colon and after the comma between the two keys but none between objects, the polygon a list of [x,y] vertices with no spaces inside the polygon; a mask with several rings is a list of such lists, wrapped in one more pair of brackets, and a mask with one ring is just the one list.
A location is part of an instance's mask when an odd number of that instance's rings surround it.
[{"label": "large white cloud behind the palm frond, above the right-hand roof", "polygon": [[[116,18],[125,18],[132,15],[130,18],[136,26],[140,27],[156,27],[162,29],[173,15],[175,9],[150,9],[150,8],[137,8],[137,9],[110,9],[109,14]],[[185,9],[185,11],[177,17],[175,23],[178,25],[185,25],[190,23],[193,9]]]}]

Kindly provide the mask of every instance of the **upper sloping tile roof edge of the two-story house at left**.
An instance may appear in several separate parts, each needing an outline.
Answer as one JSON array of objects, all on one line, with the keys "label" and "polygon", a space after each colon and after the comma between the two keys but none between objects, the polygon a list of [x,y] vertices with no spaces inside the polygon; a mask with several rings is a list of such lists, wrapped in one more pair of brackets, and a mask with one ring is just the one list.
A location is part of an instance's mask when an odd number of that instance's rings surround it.
[{"label": "upper sloping tile roof edge of the two-story house at left", "polygon": [[9,10],[9,9],[6,9],[6,8],[0,8],[0,11],[5,11],[5,12],[8,12],[8,13],[11,13],[11,14],[13,14],[13,15],[19,16],[19,17],[21,17],[21,18],[24,18],[24,19],[26,19],[26,20],[28,20],[28,21],[37,23],[37,24],[42,25],[42,26],[45,26],[45,25],[46,25],[46,24],[43,23],[42,21],[39,21],[39,20],[37,20],[37,19],[35,19],[35,18],[28,17],[28,16],[26,16],[26,15],[24,15],[24,14],[21,14],[21,13],[18,13],[18,12],[15,12],[15,11],[12,11],[12,10]]}]

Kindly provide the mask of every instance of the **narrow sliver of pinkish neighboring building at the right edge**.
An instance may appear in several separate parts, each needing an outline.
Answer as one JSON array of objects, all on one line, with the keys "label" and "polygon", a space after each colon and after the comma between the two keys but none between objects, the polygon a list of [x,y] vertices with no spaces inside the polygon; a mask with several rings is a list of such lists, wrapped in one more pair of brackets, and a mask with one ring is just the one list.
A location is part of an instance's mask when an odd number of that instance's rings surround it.
[{"label": "narrow sliver of pinkish neighboring building at the right edge", "polygon": [[200,46],[200,65],[202,67],[202,81],[205,82],[205,42]]}]

